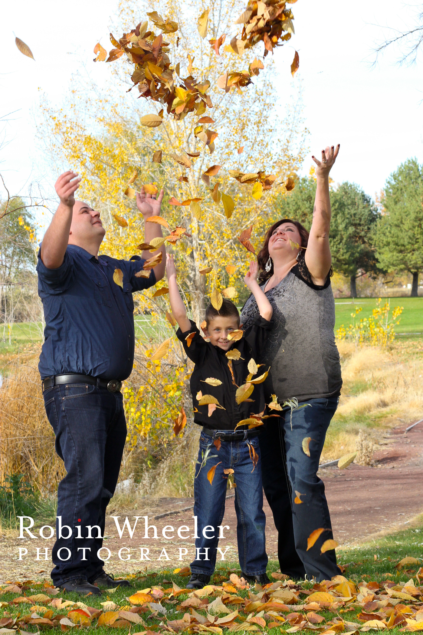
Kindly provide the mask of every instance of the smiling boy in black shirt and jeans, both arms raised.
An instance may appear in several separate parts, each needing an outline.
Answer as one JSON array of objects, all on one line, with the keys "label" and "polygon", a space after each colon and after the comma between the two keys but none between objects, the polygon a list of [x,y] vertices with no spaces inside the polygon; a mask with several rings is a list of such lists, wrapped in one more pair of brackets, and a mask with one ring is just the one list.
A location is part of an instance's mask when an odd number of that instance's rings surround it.
[{"label": "smiling boy in black shirt and jeans, both arms raised", "polygon": [[[234,470],[235,510],[238,519],[237,538],[239,565],[243,577],[250,582],[267,584],[267,554],[265,552],[265,515],[258,447],[257,428],[236,425],[265,409],[263,384],[255,384],[250,401],[236,401],[237,387],[245,384],[250,373],[250,359],[259,361],[271,329],[272,306],[257,284],[257,262],[250,263],[244,282],[252,291],[260,311],[239,340],[228,335],[239,329],[239,313],[229,300],[223,300],[217,311],[211,304],[206,309],[205,342],[194,322],[187,318],[180,297],[173,256],[166,255],[170,306],[179,324],[177,337],[185,353],[195,363],[190,386],[194,405],[194,423],[202,425],[199,439],[198,464],[194,479],[194,516],[198,518],[196,558],[191,563],[188,589],[202,589],[210,582],[215,570],[219,526],[225,511],[227,475],[224,469]],[[238,350],[237,350],[238,349]],[[231,353],[229,354],[229,351]],[[233,374],[232,374],[233,373]],[[261,371],[258,375],[262,374]],[[214,382],[210,383],[210,380]],[[202,396],[211,395],[218,403],[200,404]],[[210,401],[206,399],[206,401]],[[238,399],[239,401],[239,399]],[[254,463],[252,462],[252,458]],[[210,485],[208,471],[215,466]]]}]

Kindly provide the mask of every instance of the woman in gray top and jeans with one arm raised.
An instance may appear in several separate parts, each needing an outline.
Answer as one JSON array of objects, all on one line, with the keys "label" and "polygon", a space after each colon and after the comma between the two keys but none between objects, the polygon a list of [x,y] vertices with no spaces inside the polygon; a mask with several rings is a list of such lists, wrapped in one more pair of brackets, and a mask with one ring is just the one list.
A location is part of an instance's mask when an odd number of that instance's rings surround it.
[{"label": "woman in gray top and jeans with one arm raised", "polygon": [[[318,582],[340,573],[335,551],[321,553],[321,545],[333,535],[325,486],[317,476],[342,385],[328,239],[329,172],[338,152],[339,145],[322,150],[321,161],[312,157],[317,190],[310,233],[284,218],[269,229],[258,253],[259,280],[274,319],[264,355],[271,366],[267,394],[276,394],[279,404],[299,401],[293,410],[285,406],[279,420],[268,419],[260,434],[264,492],[279,532],[281,572]],[[257,312],[254,298],[248,298],[241,313],[244,328]],[[302,446],[307,437],[310,456]],[[307,549],[307,538],[319,528],[325,531]]]}]

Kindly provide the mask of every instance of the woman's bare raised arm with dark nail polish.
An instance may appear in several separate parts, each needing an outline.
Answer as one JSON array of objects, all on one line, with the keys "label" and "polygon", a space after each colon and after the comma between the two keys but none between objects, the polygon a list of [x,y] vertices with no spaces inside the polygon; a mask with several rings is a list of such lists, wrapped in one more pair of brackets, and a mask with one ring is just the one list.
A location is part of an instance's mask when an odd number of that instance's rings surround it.
[{"label": "woman's bare raised arm with dark nail polish", "polygon": [[340,144],[335,148],[326,147],[321,151],[321,161],[312,156],[316,163],[317,189],[314,199],[313,222],[309,243],[305,251],[305,264],[314,284],[325,284],[332,257],[329,246],[330,196],[329,172],[338,156]]}]

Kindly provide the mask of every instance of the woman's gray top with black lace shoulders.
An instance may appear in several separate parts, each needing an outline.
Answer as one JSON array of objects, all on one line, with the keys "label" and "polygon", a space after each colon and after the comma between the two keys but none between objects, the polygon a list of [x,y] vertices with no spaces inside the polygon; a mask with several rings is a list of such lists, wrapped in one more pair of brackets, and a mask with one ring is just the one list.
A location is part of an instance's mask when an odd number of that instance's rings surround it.
[{"label": "woman's gray top with black lace shoulders", "polygon": [[[271,366],[267,395],[276,394],[279,403],[294,397],[307,401],[339,395],[342,378],[333,333],[335,302],[330,277],[323,286],[313,284],[303,262],[265,295],[273,308],[274,323],[260,359]],[[257,314],[251,295],[241,311],[243,328]]]}]

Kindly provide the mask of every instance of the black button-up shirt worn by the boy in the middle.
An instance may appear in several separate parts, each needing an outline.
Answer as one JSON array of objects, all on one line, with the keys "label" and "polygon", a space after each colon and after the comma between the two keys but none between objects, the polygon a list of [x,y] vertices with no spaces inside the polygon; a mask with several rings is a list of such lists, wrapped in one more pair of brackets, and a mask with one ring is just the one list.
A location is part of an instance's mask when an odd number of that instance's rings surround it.
[{"label": "black button-up shirt worn by the boy in the middle", "polygon": [[[262,318],[260,315],[253,320],[253,323],[244,331],[241,340],[234,342],[231,349],[238,349],[241,357],[232,359],[232,369],[234,371],[235,382],[238,386],[245,384],[246,377],[249,373],[247,365],[250,359],[254,359],[256,363],[260,363],[260,354],[264,351],[264,345],[267,341],[267,335],[272,329],[271,323]],[[195,333],[191,340],[191,345],[187,345],[186,337],[189,333]],[[232,375],[227,365],[227,359],[223,349],[213,346],[210,342],[205,342],[194,322],[191,321],[191,329],[182,333],[180,328],[177,330],[177,337],[184,346],[187,357],[194,362],[194,371],[192,371],[190,387],[192,393],[192,404],[194,406],[194,422],[204,425],[210,430],[234,430],[236,424],[243,419],[250,417],[250,413],[258,414],[265,409],[264,384],[255,384],[254,390],[250,395],[253,403],[243,401],[237,404],[235,394],[237,387],[232,384]],[[257,375],[262,375],[267,368],[260,366]],[[219,386],[211,386],[206,384],[204,380],[208,377],[214,377],[222,382]],[[203,381],[202,381],[203,380]],[[208,406],[199,406],[197,393],[201,391],[203,395],[213,395],[225,410],[216,408],[208,417]],[[196,412],[195,410],[198,410]]]}]

